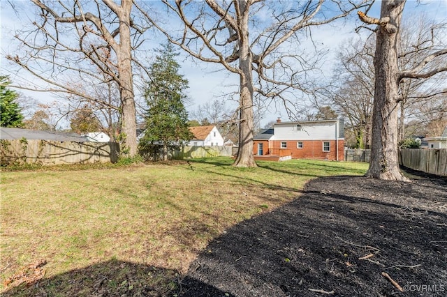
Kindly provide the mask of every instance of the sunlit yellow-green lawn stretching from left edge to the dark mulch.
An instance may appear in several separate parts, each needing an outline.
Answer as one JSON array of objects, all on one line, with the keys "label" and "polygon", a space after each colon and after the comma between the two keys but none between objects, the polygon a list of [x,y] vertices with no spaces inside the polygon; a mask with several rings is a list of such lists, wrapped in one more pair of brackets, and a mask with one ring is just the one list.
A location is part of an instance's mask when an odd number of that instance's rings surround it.
[{"label": "sunlit yellow-green lawn stretching from left edge to the dark mulch", "polygon": [[1,281],[45,259],[45,278],[57,279],[47,283],[46,294],[70,295],[69,271],[115,261],[163,273],[137,273],[131,285],[122,275],[111,290],[124,283],[135,293],[142,282],[169,290],[175,273],[185,273],[212,238],[237,222],[298,197],[311,178],[367,169],[366,163],[317,160],[260,161],[258,168],[232,162],[1,172]]}]

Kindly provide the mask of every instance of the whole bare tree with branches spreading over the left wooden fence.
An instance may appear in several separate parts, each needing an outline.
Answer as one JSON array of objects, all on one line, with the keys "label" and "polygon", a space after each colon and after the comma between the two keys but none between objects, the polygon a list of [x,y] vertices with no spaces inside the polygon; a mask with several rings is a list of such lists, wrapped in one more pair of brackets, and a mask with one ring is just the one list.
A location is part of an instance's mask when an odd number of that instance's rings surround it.
[{"label": "whole bare tree with branches spreading over the left wooden fence", "polygon": [[124,146],[129,155],[135,155],[132,50],[140,45],[145,29],[133,22],[133,1],[122,0],[120,4],[112,0],[31,2],[40,10],[40,15],[32,29],[15,35],[24,50],[7,58],[47,84],[38,91],[68,93],[107,105],[108,102],[81,89],[77,81],[116,82]]}]

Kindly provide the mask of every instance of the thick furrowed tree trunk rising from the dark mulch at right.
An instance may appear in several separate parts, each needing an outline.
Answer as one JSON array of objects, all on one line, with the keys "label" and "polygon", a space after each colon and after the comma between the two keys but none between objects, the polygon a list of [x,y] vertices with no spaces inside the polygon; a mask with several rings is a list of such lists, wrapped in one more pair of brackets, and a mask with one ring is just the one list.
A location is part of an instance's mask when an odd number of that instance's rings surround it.
[{"label": "thick furrowed tree trunk rising from the dark mulch at right", "polygon": [[377,29],[374,56],[375,91],[372,115],[371,160],[366,176],[406,181],[398,162],[397,113],[399,110],[397,34],[405,1],[382,1],[381,20],[389,21]]}]

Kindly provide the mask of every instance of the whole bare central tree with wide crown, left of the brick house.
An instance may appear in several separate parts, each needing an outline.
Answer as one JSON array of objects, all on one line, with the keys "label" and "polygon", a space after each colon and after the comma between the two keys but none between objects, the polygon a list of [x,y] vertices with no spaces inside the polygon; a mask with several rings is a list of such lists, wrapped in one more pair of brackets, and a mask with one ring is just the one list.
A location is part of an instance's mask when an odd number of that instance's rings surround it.
[{"label": "whole bare central tree with wide crown, left of the brick house", "polygon": [[171,43],[196,59],[220,64],[239,76],[240,142],[234,165],[256,167],[252,142],[254,93],[286,102],[291,89],[311,92],[307,71],[316,68],[321,53],[306,55],[300,52],[300,43],[311,39],[313,26],[345,17],[368,1],[162,2],[182,28],[168,31],[161,22],[146,16]]}]

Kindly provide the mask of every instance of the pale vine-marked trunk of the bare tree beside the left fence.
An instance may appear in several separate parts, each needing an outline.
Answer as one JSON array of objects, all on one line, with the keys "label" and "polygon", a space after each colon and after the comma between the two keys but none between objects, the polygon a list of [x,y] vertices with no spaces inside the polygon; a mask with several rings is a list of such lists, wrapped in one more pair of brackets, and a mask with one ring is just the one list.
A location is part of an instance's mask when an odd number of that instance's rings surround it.
[{"label": "pale vine-marked trunk of the bare tree beside the left fence", "polygon": [[132,56],[131,56],[131,0],[122,1],[119,10],[119,51],[117,52],[119,72],[119,94],[122,101],[122,133],[125,135],[124,146],[129,149],[129,156],[138,153],[135,99],[133,95]]}]

